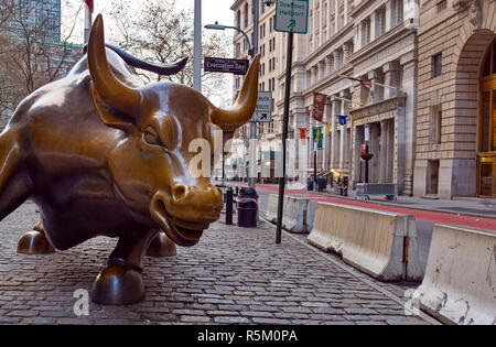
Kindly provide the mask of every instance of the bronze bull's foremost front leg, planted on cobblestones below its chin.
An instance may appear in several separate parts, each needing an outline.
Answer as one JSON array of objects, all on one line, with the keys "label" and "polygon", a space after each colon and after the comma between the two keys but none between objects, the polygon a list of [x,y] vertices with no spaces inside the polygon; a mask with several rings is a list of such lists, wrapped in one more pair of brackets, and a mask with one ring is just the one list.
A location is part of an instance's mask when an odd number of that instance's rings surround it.
[{"label": "bronze bull's foremost front leg, planted on cobblestones below its chin", "polygon": [[93,284],[93,302],[127,305],[144,299],[142,259],[157,232],[127,232],[119,237],[116,249],[109,257],[108,267],[101,270]]}]

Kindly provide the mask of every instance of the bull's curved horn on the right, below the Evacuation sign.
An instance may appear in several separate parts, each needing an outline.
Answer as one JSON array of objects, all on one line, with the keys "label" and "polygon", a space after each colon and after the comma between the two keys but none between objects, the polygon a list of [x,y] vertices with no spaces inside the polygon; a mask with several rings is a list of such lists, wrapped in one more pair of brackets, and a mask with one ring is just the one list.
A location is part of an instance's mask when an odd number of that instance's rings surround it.
[{"label": "bull's curved horn on the right, below the Evacuation sign", "polygon": [[258,99],[259,64],[260,54],[257,54],[251,62],[248,73],[246,74],[238,99],[230,109],[223,110],[217,107],[212,109],[212,122],[219,126],[224,131],[235,130],[250,120],[254,115]]}]

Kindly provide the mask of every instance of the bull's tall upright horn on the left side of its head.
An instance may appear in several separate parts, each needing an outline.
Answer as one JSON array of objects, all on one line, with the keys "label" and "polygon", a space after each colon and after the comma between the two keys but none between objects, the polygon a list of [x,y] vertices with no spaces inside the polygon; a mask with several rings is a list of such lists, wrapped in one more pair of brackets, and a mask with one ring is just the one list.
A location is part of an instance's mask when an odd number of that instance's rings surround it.
[{"label": "bull's tall upright horn on the left side of its head", "polygon": [[126,86],[110,71],[105,53],[104,20],[98,14],[91,26],[88,41],[88,67],[93,83],[103,99],[115,109],[138,117],[141,109],[141,93]]}]

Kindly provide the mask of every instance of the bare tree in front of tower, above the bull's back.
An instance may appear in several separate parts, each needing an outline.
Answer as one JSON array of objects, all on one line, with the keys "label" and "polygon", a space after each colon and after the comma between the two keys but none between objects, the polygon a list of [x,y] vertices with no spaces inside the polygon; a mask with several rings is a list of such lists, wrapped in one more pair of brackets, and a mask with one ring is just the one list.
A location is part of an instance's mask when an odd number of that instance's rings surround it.
[{"label": "bare tree in front of tower, above the bull's back", "polygon": [[75,62],[74,53],[77,57],[78,50],[68,40],[82,6],[74,10],[73,23],[61,37],[55,2],[35,6],[26,1],[0,1],[0,113],[3,113],[13,110],[40,86],[65,75],[68,63]]}]

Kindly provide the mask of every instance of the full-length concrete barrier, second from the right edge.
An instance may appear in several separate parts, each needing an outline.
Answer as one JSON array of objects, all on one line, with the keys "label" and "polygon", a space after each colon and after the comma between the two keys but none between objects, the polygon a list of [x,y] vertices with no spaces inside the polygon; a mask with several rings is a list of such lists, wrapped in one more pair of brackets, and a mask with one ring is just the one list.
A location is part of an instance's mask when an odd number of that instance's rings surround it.
[{"label": "full-length concrete barrier, second from the right edge", "polygon": [[354,206],[317,203],[310,243],[384,281],[419,281],[414,217]]}]

